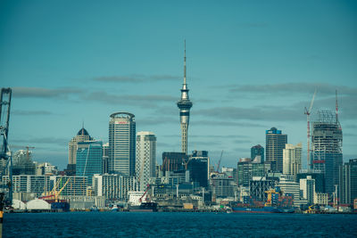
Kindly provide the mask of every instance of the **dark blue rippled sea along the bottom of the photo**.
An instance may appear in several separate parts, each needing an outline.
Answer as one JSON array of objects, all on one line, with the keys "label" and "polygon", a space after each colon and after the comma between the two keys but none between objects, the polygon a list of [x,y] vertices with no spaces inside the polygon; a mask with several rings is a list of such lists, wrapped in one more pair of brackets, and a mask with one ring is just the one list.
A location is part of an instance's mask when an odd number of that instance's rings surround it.
[{"label": "dark blue rippled sea along the bottom of the photo", "polygon": [[3,237],[357,237],[357,215],[11,213]]}]

